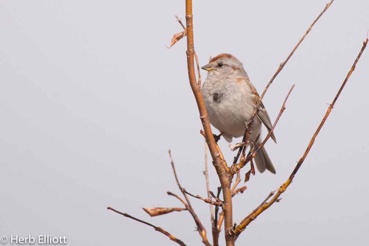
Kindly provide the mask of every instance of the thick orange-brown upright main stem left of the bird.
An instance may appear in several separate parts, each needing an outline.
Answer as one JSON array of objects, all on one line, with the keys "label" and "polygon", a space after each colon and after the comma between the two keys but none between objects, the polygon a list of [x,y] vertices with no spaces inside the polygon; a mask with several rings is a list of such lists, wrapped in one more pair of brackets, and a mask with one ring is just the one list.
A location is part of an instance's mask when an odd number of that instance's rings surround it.
[{"label": "thick orange-brown upright main stem left of the bird", "polygon": [[206,143],[209,147],[213,165],[217,171],[218,178],[223,190],[223,212],[224,212],[224,228],[225,228],[225,245],[234,246],[234,237],[228,236],[228,230],[233,227],[232,218],[232,196],[231,196],[231,180],[228,174],[227,162],[215,142],[213,132],[211,131],[209,118],[206,112],[203,97],[201,95],[200,85],[196,82],[196,75],[194,70],[194,42],[193,42],[193,16],[192,16],[192,0],[186,0],[186,29],[187,29],[187,71],[189,76],[190,86],[192,88],[194,97],[196,99],[197,107],[199,108],[201,123],[204,127],[206,136]]}]

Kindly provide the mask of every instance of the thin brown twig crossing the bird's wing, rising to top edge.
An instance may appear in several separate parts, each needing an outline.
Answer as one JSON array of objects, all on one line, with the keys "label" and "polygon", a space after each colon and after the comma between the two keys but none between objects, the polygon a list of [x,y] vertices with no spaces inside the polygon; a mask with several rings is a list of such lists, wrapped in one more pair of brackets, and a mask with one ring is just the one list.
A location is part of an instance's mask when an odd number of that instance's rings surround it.
[{"label": "thin brown twig crossing the bird's wing, rising to top edge", "polygon": [[[266,91],[268,90],[269,86],[272,84],[273,80],[277,77],[277,75],[279,74],[279,72],[282,70],[282,68],[284,67],[284,65],[286,65],[287,61],[291,58],[291,56],[293,55],[293,53],[296,51],[297,47],[300,46],[301,42],[305,39],[306,35],[311,31],[311,28],[313,27],[313,25],[315,24],[315,22],[317,22],[319,20],[319,18],[324,14],[324,12],[331,6],[332,2],[334,0],[331,0],[330,3],[327,3],[325,8],[323,9],[323,11],[318,15],[318,17],[313,21],[313,23],[310,25],[310,27],[307,29],[307,31],[305,32],[305,34],[302,36],[302,38],[300,39],[300,41],[297,43],[297,45],[295,46],[295,48],[293,48],[292,52],[287,56],[287,59],[281,63],[279,65],[279,68],[277,69],[277,71],[275,72],[275,74],[273,75],[273,77],[270,79],[268,85],[266,85],[263,93],[261,94],[260,98],[259,98],[259,101],[258,103],[256,104],[256,107],[254,109],[254,112],[252,113],[252,116],[249,120],[249,123],[248,123],[248,126],[247,126],[247,129],[245,130],[245,134],[244,134],[244,140],[242,140],[243,142],[244,141],[247,141],[248,140],[248,136],[249,136],[249,131],[251,130],[251,126],[252,126],[252,123],[254,122],[254,118],[255,118],[255,115],[256,113],[258,112],[259,110],[259,107],[261,105],[261,101],[262,99],[264,98],[264,95],[266,93]],[[272,132],[272,130],[270,131]],[[239,155],[236,156],[237,159],[239,157]],[[236,158],[235,157],[235,158]],[[235,159],[233,161],[234,164],[237,163],[237,159]]]}]

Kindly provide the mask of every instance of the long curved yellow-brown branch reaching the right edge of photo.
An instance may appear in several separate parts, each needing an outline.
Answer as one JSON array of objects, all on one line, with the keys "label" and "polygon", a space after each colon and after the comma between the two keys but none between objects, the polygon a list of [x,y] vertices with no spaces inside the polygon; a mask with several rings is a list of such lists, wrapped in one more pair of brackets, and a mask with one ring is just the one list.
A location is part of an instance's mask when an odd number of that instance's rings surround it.
[{"label": "long curved yellow-brown branch reaching the right edge of photo", "polygon": [[325,120],[327,120],[328,115],[330,114],[332,108],[334,107],[335,102],[338,99],[338,96],[341,94],[342,89],[344,88],[346,82],[348,81],[348,78],[351,76],[352,72],[355,70],[356,67],[356,63],[358,63],[364,49],[366,48],[366,45],[368,44],[368,38],[366,39],[366,41],[363,42],[363,46],[359,52],[359,55],[356,57],[356,60],[354,62],[354,64],[351,67],[351,70],[348,72],[344,82],[341,85],[341,88],[339,88],[337,95],[335,96],[333,102],[328,106],[327,112],[325,113],[323,120],[321,121],[321,123],[319,124],[317,130],[315,131],[313,137],[311,138],[307,149],[303,155],[303,157],[300,158],[299,162],[297,162],[297,165],[295,167],[295,169],[293,170],[293,172],[291,173],[291,175],[289,176],[289,178],[287,179],[287,181],[285,183],[283,183],[279,189],[277,190],[277,193],[273,196],[273,198],[269,201],[269,203],[264,203],[257,211],[253,212],[251,215],[249,215],[248,217],[246,217],[242,223],[240,223],[238,226],[236,226],[235,229],[235,233],[239,234],[242,231],[245,230],[246,226],[248,224],[251,223],[251,221],[253,221],[256,217],[258,217],[258,215],[260,215],[263,211],[265,211],[266,209],[268,209],[273,203],[275,203],[276,201],[279,200],[279,196],[286,191],[287,187],[292,183],[292,180],[294,178],[294,176],[296,175],[297,171],[299,171],[300,166],[303,164],[307,154],[309,153],[311,147],[314,144],[315,138],[317,137],[319,131],[321,130],[321,128],[323,127],[323,124],[325,122]]}]

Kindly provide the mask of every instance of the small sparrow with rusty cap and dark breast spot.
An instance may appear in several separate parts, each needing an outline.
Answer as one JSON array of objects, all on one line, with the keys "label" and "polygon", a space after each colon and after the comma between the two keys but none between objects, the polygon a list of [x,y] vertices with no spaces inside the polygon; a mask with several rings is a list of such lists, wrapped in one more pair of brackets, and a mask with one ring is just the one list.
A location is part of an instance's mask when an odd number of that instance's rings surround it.
[{"label": "small sparrow with rusty cap and dark breast spot", "polygon": [[[241,61],[231,54],[217,55],[201,68],[208,71],[207,78],[201,87],[201,94],[209,122],[230,143],[233,137],[244,135],[245,125],[251,119],[260,96],[251,84]],[[254,149],[262,143],[260,138],[253,143],[261,133],[262,124],[268,132],[272,130],[272,123],[263,103],[254,117],[248,139],[250,147],[255,144]],[[270,137],[277,143],[273,132]],[[256,154],[254,162],[259,172],[268,170],[276,173],[264,147]]]}]

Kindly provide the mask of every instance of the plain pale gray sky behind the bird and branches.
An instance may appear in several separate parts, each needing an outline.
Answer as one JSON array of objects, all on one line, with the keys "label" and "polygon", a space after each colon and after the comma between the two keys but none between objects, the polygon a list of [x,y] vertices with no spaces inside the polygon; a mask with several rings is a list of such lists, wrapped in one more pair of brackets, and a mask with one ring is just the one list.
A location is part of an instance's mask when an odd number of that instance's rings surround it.
[{"label": "plain pale gray sky behind the bird and branches", "polygon": [[[210,54],[231,53],[261,93],[327,1],[194,1],[200,66]],[[275,129],[278,144],[266,144],[277,174],[251,177],[234,197],[235,222],[303,155],[362,47],[368,10],[367,0],[334,1],[273,82],[263,100],[273,122],[296,84]],[[166,194],[180,193],[168,149],[182,186],[206,196],[185,39],[165,46],[182,31],[175,14],[184,21],[184,1],[0,1],[0,236],[175,245],[110,206],[202,245],[188,212],[150,218],[141,209],[182,206]],[[368,242],[368,78],[366,50],[282,201],[237,244]],[[235,153],[224,139],[219,144],[231,163]],[[192,205],[211,240],[208,204]]]}]

